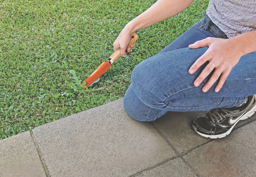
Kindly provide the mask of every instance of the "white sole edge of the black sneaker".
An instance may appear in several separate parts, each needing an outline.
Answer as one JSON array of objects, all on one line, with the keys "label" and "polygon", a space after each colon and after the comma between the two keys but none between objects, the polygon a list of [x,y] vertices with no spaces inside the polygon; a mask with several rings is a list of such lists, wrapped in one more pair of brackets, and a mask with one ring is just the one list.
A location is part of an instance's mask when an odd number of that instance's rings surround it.
[{"label": "white sole edge of the black sneaker", "polygon": [[222,133],[222,134],[218,134],[218,135],[203,134],[203,133],[197,132],[196,127],[194,127],[194,125],[192,127],[193,127],[193,129],[195,130],[195,132],[197,134],[199,134],[201,136],[204,136],[205,138],[212,138],[212,139],[223,138],[223,137],[227,136],[232,131],[232,129],[234,128],[236,123],[239,122],[239,120],[247,119],[248,117],[251,117],[255,112],[256,112],[256,104],[255,104],[255,106],[253,107],[253,109],[251,111],[247,112],[244,115],[241,115],[241,117],[235,122],[235,124],[226,133]]}]

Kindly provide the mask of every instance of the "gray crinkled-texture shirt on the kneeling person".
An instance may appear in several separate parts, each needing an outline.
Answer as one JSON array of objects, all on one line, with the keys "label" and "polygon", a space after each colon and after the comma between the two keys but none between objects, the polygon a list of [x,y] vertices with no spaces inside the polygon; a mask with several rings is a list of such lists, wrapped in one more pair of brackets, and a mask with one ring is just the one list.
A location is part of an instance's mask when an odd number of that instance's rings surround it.
[{"label": "gray crinkled-texture shirt on the kneeling person", "polygon": [[206,14],[229,38],[256,30],[256,0],[210,0]]}]

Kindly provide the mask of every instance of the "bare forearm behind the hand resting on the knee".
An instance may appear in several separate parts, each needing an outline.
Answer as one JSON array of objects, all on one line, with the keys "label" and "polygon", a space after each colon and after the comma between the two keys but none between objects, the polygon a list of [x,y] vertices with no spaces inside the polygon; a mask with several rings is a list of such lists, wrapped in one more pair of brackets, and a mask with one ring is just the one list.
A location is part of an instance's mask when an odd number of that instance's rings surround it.
[{"label": "bare forearm behind the hand resting on the knee", "polygon": [[256,52],[256,31],[250,31],[229,38],[242,55]]}]

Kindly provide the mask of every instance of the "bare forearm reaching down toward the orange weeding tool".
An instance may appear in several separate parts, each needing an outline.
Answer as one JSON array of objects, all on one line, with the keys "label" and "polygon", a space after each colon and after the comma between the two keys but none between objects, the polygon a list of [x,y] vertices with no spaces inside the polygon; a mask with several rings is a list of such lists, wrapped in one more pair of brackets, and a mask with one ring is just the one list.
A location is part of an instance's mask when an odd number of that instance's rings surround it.
[{"label": "bare forearm reaching down toward the orange weeding tool", "polygon": [[131,20],[125,29],[135,32],[159,21],[177,15],[194,0],[158,0],[148,10]]}]

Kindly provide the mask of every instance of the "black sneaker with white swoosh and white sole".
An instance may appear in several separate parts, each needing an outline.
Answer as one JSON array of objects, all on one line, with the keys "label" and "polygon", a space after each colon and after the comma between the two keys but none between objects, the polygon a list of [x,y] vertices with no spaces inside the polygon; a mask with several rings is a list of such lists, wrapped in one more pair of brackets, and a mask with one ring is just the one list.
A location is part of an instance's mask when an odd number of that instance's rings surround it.
[{"label": "black sneaker with white swoosh and white sole", "polygon": [[228,135],[239,120],[247,119],[256,111],[256,96],[247,97],[246,103],[239,107],[215,108],[208,111],[204,117],[198,117],[193,122],[197,134],[206,138],[223,138]]}]

